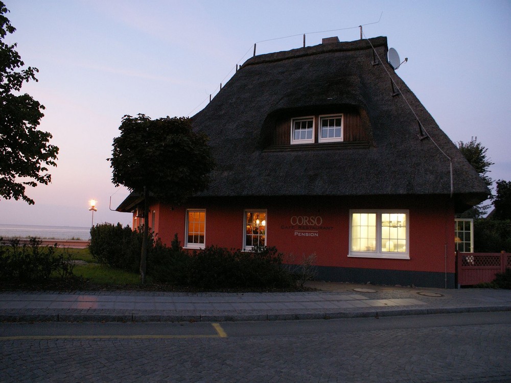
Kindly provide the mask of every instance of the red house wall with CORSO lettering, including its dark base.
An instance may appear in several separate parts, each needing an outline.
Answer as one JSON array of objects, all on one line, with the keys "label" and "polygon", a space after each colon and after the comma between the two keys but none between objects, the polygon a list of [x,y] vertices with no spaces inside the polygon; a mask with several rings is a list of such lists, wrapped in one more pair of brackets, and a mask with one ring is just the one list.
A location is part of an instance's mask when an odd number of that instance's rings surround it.
[{"label": "red house wall with CORSO lettering, including its dark base", "polygon": [[[167,245],[174,233],[184,244],[187,208],[206,209],[206,246],[241,248],[244,209],[266,209],[266,244],[293,264],[315,253],[322,279],[454,287],[454,208],[447,197],[217,198],[195,199],[174,208],[152,205],[155,231]],[[408,210],[410,259],[349,257],[350,209]],[[310,230],[310,225],[297,225],[293,217],[314,217],[310,220],[321,224]]]}]

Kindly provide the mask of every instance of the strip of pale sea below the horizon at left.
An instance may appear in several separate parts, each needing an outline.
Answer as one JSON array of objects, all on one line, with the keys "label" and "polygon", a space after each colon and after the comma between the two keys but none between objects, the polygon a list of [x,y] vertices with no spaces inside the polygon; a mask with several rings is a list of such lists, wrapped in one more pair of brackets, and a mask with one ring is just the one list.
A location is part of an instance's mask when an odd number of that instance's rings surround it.
[{"label": "strip of pale sea below the horizon at left", "polygon": [[90,227],[0,224],[0,237],[4,239],[37,237],[41,240],[88,241],[90,239]]}]

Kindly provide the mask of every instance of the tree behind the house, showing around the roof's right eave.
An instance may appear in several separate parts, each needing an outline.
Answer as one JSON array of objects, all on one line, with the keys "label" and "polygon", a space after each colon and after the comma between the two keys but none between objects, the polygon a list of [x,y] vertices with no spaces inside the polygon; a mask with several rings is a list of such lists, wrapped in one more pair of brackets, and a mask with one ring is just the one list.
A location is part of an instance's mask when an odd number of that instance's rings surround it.
[{"label": "tree behind the house, showing around the roof's right eave", "polygon": [[[486,186],[492,186],[492,179],[487,175],[490,172],[489,167],[493,162],[486,157],[487,148],[483,147],[477,141],[477,137],[472,137],[469,142],[458,142],[458,149],[461,154],[469,161],[477,173],[481,176]],[[481,218],[484,216],[489,205],[479,204],[460,214],[460,218]]]}]

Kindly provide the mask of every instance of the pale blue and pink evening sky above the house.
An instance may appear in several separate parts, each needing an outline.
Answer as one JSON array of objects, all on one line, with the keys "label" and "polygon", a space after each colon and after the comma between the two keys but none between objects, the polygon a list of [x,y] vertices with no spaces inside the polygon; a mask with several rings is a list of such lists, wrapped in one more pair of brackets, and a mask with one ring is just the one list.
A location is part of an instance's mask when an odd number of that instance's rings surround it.
[{"label": "pale blue and pink evening sky above the house", "polygon": [[45,106],[40,129],[60,148],[35,205],[0,200],[0,223],[90,226],[131,222],[111,211],[129,194],[111,183],[122,117],[193,116],[256,53],[386,36],[397,74],[453,142],[473,136],[511,180],[511,1],[3,0],[27,66],[27,92]]}]

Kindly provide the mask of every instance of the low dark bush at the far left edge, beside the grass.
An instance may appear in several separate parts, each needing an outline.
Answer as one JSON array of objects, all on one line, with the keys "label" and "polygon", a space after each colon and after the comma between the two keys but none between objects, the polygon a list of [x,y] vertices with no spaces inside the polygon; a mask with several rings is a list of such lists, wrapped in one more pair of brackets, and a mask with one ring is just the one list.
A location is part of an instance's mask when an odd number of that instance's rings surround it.
[{"label": "low dark bush at the far left edge, beside the grass", "polygon": [[0,280],[22,283],[40,283],[51,278],[67,281],[74,278],[74,262],[67,249],[41,246],[42,241],[30,238],[29,244],[20,245],[18,239],[5,244],[0,238]]}]

